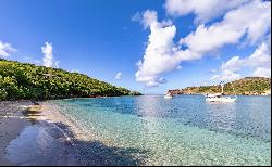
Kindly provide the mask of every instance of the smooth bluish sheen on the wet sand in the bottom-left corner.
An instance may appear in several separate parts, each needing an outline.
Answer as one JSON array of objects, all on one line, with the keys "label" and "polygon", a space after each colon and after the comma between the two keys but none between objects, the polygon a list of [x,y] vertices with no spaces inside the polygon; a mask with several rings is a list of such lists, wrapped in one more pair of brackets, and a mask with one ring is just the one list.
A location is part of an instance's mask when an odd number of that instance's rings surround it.
[{"label": "smooth bluish sheen on the wet sand in the bottom-left corner", "polygon": [[[49,127],[48,127],[49,128]],[[5,149],[5,157],[14,165],[73,165],[74,159],[59,139],[64,138],[59,130],[48,130],[39,124],[27,126]],[[72,153],[72,152],[71,152]]]}]

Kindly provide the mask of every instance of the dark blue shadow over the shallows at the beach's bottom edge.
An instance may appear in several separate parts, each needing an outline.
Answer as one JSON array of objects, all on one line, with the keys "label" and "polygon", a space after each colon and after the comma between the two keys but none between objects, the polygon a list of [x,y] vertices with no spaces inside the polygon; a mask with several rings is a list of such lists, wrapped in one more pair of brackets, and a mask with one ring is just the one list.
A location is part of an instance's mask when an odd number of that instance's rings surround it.
[{"label": "dark blue shadow over the shallows at the beach's bottom edge", "polygon": [[[70,137],[73,136],[69,127],[62,123],[54,123]],[[148,151],[134,147],[109,146],[100,141],[81,141],[74,139],[78,165],[88,166],[139,166],[145,165]]]}]

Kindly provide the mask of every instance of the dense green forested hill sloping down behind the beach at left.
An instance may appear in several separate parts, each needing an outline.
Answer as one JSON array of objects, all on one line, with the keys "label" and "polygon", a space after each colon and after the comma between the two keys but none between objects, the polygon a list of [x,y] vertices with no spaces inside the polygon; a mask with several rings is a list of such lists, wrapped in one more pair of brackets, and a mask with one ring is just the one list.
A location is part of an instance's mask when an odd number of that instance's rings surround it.
[{"label": "dense green forested hill sloping down behind the beach at left", "polygon": [[0,100],[137,94],[83,74],[0,59]]}]

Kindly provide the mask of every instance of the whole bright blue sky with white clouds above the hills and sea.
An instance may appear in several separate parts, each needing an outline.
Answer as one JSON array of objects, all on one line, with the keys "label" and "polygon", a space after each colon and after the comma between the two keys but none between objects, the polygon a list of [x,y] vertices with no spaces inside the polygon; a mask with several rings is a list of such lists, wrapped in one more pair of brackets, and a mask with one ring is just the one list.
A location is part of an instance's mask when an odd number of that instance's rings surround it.
[{"label": "whole bright blue sky with white clouds above the hills and sea", "polygon": [[140,91],[271,77],[271,1],[0,0],[0,57]]}]

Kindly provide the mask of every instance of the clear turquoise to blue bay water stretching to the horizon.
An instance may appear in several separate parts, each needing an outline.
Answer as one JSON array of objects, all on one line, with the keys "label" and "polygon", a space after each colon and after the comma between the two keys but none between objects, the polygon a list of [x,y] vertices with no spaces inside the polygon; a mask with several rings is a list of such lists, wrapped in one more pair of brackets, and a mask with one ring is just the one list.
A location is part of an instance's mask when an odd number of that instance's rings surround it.
[{"label": "clear turquoise to blue bay water stretching to the horizon", "polygon": [[[270,165],[271,97],[207,103],[202,95],[57,100],[94,140],[137,149],[145,165]],[[88,145],[87,145],[88,146]]]}]

